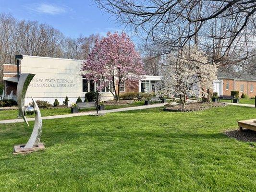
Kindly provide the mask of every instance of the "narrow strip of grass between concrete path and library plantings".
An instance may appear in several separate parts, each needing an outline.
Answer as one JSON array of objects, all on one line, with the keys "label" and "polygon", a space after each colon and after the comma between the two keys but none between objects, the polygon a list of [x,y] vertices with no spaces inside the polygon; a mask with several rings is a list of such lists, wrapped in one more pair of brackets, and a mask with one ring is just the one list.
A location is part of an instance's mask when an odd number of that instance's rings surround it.
[{"label": "narrow strip of grass between concrete path and library plantings", "polygon": [[[127,107],[135,107],[144,105],[144,101],[136,101],[133,104],[126,104],[120,106],[105,106],[105,109],[114,109],[114,108],[127,108]],[[83,108],[80,111],[92,111],[96,110],[96,108]],[[70,114],[70,108],[54,108],[54,109],[40,109],[42,116],[51,116],[51,115],[63,115],[63,114]],[[16,119],[18,115],[18,110],[4,110],[0,111],[0,120],[11,120]],[[28,117],[35,117],[35,115],[28,116]]]}]

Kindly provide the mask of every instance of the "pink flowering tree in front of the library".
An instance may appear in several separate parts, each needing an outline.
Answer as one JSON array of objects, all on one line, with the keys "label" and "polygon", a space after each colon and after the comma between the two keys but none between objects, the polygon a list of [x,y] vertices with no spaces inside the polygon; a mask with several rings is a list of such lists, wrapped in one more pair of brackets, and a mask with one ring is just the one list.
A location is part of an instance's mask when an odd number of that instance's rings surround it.
[{"label": "pink flowering tree in front of the library", "polygon": [[143,63],[134,43],[125,33],[107,33],[96,40],[92,52],[83,63],[85,78],[97,83],[97,90],[104,87],[119,101],[120,87],[135,87],[144,74]]}]

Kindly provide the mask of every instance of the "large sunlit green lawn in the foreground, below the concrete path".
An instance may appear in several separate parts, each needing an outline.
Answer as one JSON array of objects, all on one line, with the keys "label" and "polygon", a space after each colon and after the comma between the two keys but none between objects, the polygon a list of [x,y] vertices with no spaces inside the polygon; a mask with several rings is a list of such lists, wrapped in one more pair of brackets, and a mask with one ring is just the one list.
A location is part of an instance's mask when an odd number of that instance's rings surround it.
[{"label": "large sunlit green lawn in the foreground, below the concrete path", "polygon": [[12,155],[32,131],[0,125],[1,192],[253,192],[256,143],[225,136],[256,108],[161,108],[43,120],[46,150]]}]

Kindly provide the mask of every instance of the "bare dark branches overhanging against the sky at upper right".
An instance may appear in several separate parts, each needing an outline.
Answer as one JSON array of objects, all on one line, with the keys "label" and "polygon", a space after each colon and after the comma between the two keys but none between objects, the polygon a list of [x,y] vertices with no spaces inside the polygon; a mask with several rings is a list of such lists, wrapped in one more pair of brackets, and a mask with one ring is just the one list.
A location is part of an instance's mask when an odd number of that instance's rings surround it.
[{"label": "bare dark branches overhanging against the sky at upper right", "polygon": [[[226,63],[232,53],[236,53],[234,59],[239,65],[252,56],[248,50],[255,46],[256,0],[95,1],[145,36],[146,44],[153,41],[161,45],[161,54],[198,44],[224,65],[234,61]],[[214,28],[209,27],[211,24]]]}]

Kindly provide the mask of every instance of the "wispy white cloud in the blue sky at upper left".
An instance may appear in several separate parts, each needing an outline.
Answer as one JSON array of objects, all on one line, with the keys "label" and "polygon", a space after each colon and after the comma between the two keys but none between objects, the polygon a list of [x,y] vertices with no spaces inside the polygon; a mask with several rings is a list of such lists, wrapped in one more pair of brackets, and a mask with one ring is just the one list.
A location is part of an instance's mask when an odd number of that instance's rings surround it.
[{"label": "wispy white cloud in the blue sky at upper left", "polygon": [[57,15],[57,14],[67,12],[67,9],[64,7],[53,5],[53,4],[47,4],[47,3],[32,4],[26,7],[29,10],[34,12],[51,14],[51,15]]}]

